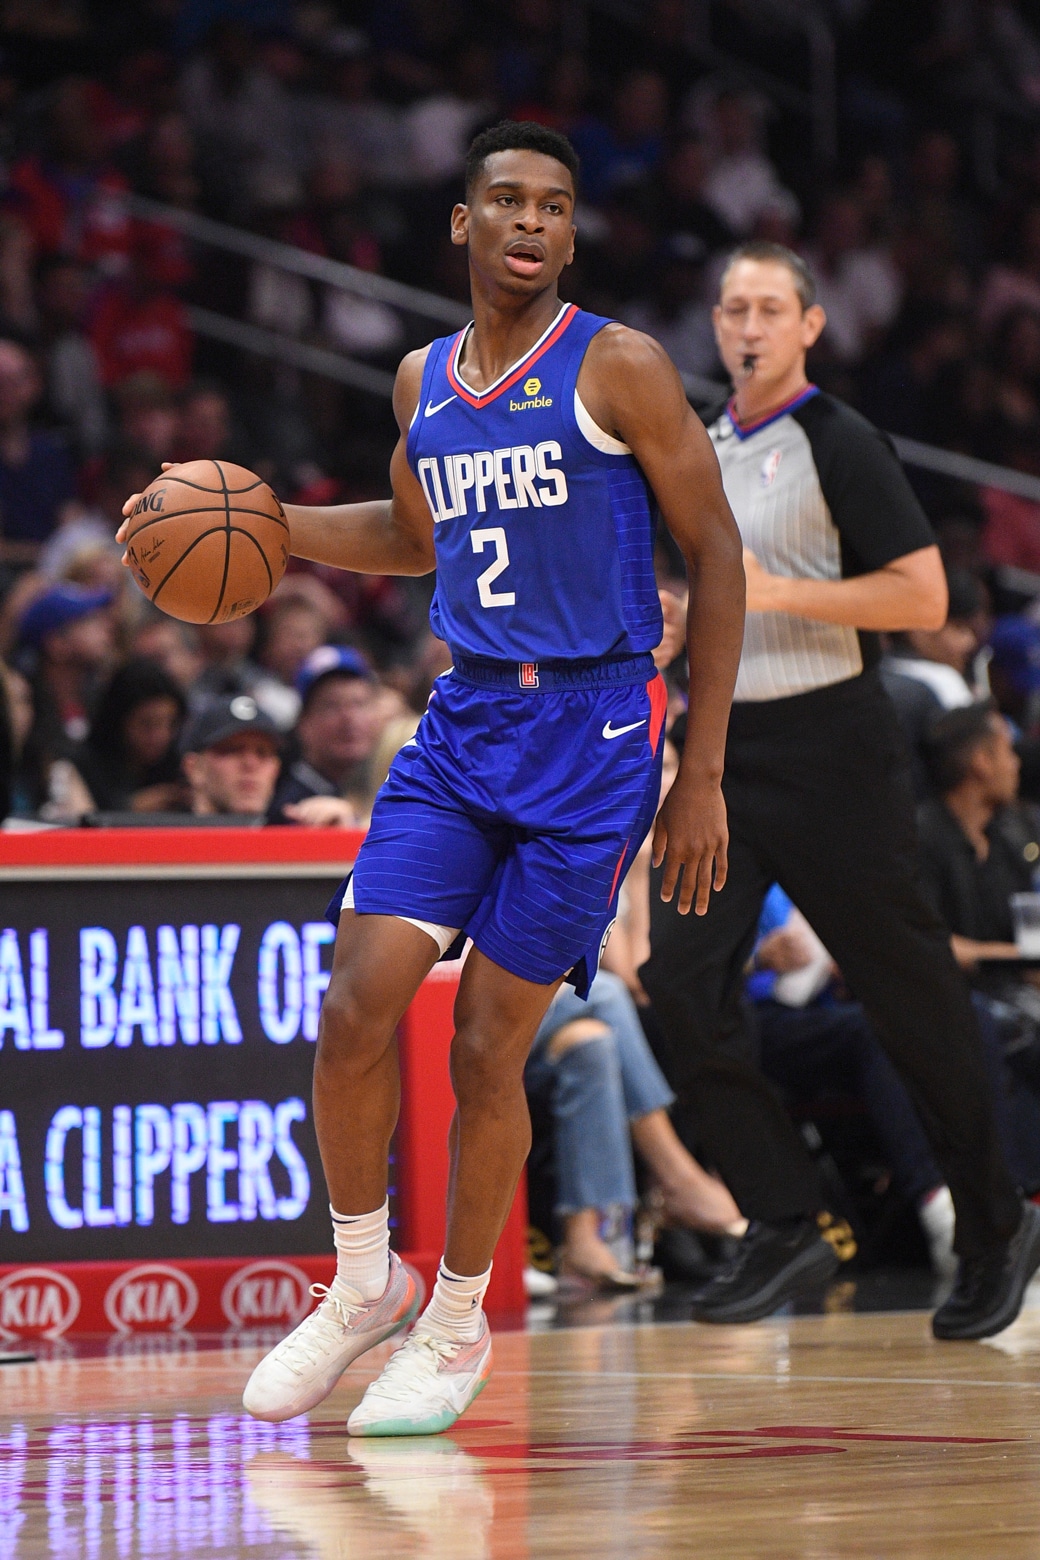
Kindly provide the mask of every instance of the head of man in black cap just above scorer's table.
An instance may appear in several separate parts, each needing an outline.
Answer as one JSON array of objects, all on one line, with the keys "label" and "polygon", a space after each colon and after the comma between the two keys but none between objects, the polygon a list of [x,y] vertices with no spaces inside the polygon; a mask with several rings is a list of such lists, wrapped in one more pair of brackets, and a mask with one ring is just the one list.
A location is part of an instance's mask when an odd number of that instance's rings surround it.
[{"label": "head of man in black cap just above scorer's table", "polygon": [[262,824],[281,769],[281,736],[248,694],[220,699],[192,716],[181,766],[196,817]]}]

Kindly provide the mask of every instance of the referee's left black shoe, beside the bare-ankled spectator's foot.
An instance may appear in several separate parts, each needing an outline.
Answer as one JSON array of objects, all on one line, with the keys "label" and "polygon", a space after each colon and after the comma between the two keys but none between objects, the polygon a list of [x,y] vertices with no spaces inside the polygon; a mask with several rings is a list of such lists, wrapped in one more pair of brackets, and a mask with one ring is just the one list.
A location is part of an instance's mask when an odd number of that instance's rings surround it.
[{"label": "referee's left black shoe, beside the bare-ankled spectator's foot", "polygon": [[755,1221],[731,1264],[694,1296],[694,1320],[759,1321],[801,1290],[825,1284],[839,1265],[814,1218]]}]

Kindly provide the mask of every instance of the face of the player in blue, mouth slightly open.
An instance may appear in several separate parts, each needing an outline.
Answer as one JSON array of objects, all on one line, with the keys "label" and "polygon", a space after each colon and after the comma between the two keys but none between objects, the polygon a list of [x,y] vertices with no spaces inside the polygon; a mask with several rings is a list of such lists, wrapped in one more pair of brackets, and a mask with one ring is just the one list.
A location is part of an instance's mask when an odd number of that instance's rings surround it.
[{"label": "face of the player in blue, mouth slightly open", "polygon": [[543,151],[494,151],[452,212],[452,243],[469,245],[469,268],[515,296],[555,285],[574,259],[574,183]]}]

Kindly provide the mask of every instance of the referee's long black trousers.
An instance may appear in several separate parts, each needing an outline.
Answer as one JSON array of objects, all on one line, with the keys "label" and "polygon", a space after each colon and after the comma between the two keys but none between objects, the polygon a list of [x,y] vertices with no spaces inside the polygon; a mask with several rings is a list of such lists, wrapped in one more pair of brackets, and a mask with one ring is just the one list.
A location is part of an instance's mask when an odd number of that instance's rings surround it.
[{"label": "referee's long black trousers", "polygon": [[650,895],[641,977],[680,1114],[747,1218],[814,1215],[812,1159],[756,1065],[744,969],[780,883],[834,955],[901,1073],[957,1211],[960,1256],[992,1253],[1021,1204],[1006,1167],[968,989],[923,897],[906,749],[875,672],[736,704],[730,875],[706,916]]}]

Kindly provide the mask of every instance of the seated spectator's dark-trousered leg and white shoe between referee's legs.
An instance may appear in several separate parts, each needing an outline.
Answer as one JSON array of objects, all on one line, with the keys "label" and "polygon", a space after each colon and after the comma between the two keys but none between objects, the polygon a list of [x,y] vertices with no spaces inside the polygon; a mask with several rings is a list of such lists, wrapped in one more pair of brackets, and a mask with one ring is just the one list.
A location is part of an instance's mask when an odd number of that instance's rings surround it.
[{"label": "seated spectator's dark-trousered leg and white shoe between referee's legs", "polygon": [[[893,1187],[917,1211],[932,1267],[950,1278],[956,1268],[950,1187],[867,1014],[858,1002],[836,1000],[830,992],[833,970],[819,938],[773,885],[748,980],[762,1072],[800,1104],[839,1094],[864,1106]],[[797,977],[800,989],[794,989]]]}]

